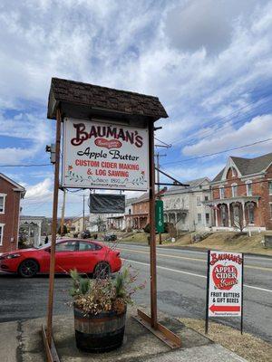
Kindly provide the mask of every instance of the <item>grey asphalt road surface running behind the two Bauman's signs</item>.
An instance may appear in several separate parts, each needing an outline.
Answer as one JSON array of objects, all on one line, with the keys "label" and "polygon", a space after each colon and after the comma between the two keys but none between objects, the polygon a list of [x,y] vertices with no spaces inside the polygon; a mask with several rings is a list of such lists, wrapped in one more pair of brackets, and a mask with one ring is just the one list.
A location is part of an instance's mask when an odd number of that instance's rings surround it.
[{"label": "grey asphalt road surface running behind the two Bauman's signs", "polygon": [[[138,245],[119,245],[125,264],[139,272],[139,282],[147,287],[135,300],[149,305],[149,249]],[[158,309],[172,316],[205,317],[206,252],[158,248]],[[246,256],[244,278],[244,330],[272,342],[272,258]],[[0,321],[30,319],[46,314],[48,276],[31,280],[0,274]],[[67,305],[70,278],[56,276],[54,313],[72,313]],[[220,319],[239,327],[238,318]]]}]

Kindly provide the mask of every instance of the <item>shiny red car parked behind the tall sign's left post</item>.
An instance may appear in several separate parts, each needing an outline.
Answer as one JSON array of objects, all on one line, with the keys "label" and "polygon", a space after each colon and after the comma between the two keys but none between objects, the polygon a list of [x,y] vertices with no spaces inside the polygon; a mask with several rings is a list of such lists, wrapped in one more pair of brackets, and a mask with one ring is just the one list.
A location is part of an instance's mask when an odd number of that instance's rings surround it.
[{"label": "shiny red car parked behind the tall sign's left post", "polygon": [[[50,244],[37,249],[20,249],[0,256],[0,270],[17,272],[25,278],[37,272],[48,273],[50,268]],[[99,276],[120,271],[119,251],[113,251],[102,243],[81,239],[60,239],[55,248],[55,272],[65,273],[76,269],[81,273]]]}]

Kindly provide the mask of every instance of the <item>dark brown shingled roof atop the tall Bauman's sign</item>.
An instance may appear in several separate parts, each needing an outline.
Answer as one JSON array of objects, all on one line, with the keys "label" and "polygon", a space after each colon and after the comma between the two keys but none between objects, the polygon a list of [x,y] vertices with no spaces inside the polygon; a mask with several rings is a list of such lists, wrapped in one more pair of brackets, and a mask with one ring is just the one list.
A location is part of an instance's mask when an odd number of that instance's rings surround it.
[{"label": "dark brown shingled roof atop the tall Bauman's sign", "polygon": [[49,119],[56,118],[56,108],[60,103],[61,105],[62,103],[82,105],[90,109],[112,110],[153,119],[168,117],[158,97],[52,78],[48,100]]}]

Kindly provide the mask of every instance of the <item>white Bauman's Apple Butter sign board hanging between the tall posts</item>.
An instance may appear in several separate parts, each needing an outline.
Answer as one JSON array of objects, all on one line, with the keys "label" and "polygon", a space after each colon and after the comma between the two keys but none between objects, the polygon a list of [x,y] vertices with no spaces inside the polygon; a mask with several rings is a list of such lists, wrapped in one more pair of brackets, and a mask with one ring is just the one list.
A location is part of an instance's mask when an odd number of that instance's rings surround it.
[{"label": "white Bauman's Apple Butter sign board hanging between the tall posts", "polygon": [[63,186],[148,189],[148,130],[64,119]]}]

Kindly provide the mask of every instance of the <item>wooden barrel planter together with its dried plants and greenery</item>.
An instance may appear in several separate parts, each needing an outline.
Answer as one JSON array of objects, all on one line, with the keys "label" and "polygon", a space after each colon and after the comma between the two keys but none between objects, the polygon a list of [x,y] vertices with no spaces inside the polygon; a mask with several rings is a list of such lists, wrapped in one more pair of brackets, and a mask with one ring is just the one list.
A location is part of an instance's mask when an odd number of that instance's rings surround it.
[{"label": "wooden barrel planter together with its dried plants and greenery", "polygon": [[76,346],[85,352],[121,346],[127,305],[132,304],[135,291],[145,286],[135,284],[137,274],[130,268],[124,268],[114,279],[106,274],[91,280],[71,271]]}]

